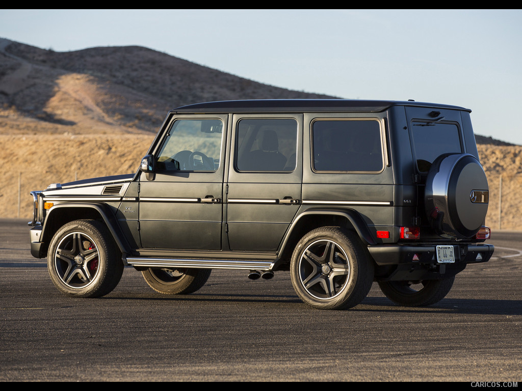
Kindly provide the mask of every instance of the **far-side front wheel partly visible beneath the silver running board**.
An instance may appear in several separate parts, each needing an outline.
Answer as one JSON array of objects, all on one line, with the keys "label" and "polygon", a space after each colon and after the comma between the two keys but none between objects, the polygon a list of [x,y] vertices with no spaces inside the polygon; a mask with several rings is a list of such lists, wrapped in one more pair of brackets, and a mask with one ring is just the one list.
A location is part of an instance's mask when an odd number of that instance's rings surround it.
[{"label": "far-side front wheel partly visible beneath the silver running board", "polygon": [[141,272],[147,284],[165,295],[191,294],[201,288],[210,277],[211,269],[148,268]]}]

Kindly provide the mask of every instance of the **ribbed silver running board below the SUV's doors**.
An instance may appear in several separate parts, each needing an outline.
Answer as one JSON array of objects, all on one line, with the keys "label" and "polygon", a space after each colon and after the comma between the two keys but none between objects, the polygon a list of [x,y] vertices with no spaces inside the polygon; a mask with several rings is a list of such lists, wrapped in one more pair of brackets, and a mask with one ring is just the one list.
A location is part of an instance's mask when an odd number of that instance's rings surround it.
[{"label": "ribbed silver running board below the SUV's doors", "polygon": [[275,261],[213,259],[169,259],[128,256],[127,264],[135,267],[190,267],[199,269],[271,270]]}]

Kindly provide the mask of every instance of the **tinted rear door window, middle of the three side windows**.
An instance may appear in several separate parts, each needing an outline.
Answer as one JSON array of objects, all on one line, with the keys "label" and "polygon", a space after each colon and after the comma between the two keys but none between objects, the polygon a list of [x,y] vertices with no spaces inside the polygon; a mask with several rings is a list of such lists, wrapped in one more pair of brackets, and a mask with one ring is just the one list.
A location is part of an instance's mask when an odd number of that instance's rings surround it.
[{"label": "tinted rear door window, middle of the three side windows", "polygon": [[236,132],[239,172],[292,172],[297,148],[295,119],[242,119]]}]

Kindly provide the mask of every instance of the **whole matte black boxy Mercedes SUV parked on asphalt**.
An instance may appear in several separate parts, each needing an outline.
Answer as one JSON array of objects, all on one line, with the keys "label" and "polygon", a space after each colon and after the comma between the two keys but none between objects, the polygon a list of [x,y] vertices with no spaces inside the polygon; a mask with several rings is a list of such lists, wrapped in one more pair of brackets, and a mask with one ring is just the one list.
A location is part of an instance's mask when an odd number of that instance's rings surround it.
[{"label": "whole matte black boxy Mercedes SUV parked on asphalt", "polygon": [[131,265],[164,294],[198,290],[213,268],[289,270],[317,308],[356,306],[374,281],[426,306],[493,253],[469,113],[413,101],[179,107],[136,174],[31,192],[31,254],[71,296],[108,294]]}]

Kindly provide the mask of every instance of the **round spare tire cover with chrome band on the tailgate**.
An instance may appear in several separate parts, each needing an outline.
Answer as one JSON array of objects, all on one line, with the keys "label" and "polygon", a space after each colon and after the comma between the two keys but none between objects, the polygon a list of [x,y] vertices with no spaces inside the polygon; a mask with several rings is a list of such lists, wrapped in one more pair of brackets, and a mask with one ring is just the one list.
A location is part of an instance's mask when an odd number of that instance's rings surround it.
[{"label": "round spare tire cover with chrome band on the tailgate", "polygon": [[443,154],[426,178],[424,206],[438,235],[465,239],[477,234],[488,212],[484,169],[470,154]]}]

